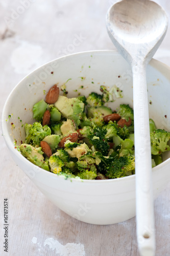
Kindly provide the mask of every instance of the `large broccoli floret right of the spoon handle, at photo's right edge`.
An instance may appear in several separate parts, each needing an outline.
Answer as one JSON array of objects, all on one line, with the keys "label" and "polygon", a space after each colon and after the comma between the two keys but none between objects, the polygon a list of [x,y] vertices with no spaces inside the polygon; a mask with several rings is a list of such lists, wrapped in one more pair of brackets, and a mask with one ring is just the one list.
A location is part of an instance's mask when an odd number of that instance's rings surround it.
[{"label": "large broccoli floret right of the spoon handle, at photo's right edge", "polygon": [[167,142],[170,139],[170,133],[162,129],[157,129],[151,134],[151,153],[153,155],[160,155],[163,152],[169,151],[170,146]]}]

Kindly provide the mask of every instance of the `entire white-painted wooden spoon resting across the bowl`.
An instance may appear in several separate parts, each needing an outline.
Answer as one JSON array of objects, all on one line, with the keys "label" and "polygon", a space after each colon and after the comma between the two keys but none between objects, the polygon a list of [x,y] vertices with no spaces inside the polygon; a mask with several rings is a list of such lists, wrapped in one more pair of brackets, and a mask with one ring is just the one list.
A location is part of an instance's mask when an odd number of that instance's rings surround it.
[{"label": "entire white-painted wooden spoon resting across the bowl", "polygon": [[146,67],[166,30],[164,10],[149,0],[123,0],[107,13],[107,29],[133,73],[136,231],[140,255],[155,255],[155,225]]}]

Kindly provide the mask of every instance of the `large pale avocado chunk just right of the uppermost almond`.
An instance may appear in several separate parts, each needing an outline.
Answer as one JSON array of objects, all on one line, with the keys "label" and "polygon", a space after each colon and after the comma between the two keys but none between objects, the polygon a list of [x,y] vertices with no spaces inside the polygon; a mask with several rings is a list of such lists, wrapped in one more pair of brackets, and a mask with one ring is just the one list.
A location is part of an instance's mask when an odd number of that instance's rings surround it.
[{"label": "large pale avocado chunk just right of the uppermost almond", "polygon": [[59,96],[54,106],[60,111],[63,117],[74,120],[77,125],[80,124],[80,119],[84,111],[84,103],[81,100]]}]

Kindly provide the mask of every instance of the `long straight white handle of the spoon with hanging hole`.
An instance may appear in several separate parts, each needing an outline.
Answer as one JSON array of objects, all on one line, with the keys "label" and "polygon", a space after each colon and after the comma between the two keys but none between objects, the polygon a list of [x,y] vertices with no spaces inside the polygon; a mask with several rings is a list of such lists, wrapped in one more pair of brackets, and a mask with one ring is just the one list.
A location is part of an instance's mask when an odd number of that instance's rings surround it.
[{"label": "long straight white handle of the spoon with hanging hole", "polygon": [[146,80],[147,63],[132,63],[135,131],[136,232],[141,256],[155,255],[151,142]]}]

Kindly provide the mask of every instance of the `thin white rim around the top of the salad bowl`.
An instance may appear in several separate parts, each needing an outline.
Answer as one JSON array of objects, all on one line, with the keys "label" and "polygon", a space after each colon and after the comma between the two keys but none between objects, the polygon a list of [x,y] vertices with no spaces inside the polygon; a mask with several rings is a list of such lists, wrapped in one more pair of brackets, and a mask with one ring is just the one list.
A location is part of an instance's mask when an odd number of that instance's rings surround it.
[{"label": "thin white rim around the top of the salad bowl", "polygon": [[[33,164],[32,162],[30,162],[29,160],[27,160],[25,157],[23,157],[21,155],[21,153],[17,150],[17,148],[15,148],[15,145],[14,143],[12,142],[11,140],[11,137],[9,135],[9,133],[6,133],[6,126],[7,126],[7,121],[5,119],[5,116],[6,115],[6,109],[7,109],[7,105],[8,105],[8,102],[10,101],[10,98],[12,97],[14,91],[20,86],[20,84],[22,83],[22,81],[24,81],[25,79],[27,79],[30,75],[32,75],[33,73],[39,71],[42,69],[42,67],[44,66],[47,66],[49,65],[50,63],[54,62],[54,61],[58,61],[58,60],[62,60],[64,58],[71,58],[72,56],[78,56],[78,55],[86,55],[86,54],[95,54],[95,53],[98,53],[98,54],[104,54],[104,53],[107,53],[107,54],[113,54],[113,55],[119,55],[119,56],[122,56],[120,53],[118,53],[117,50],[91,50],[91,51],[82,51],[82,52],[77,52],[77,53],[72,53],[72,54],[68,54],[68,55],[65,55],[65,56],[61,56],[61,57],[58,57],[58,58],[55,58],[51,61],[48,61],[46,63],[44,63],[43,65],[39,66],[38,68],[34,69],[33,71],[31,71],[28,75],[26,75],[25,77],[23,77],[17,84],[16,86],[12,89],[12,91],[10,92],[10,94],[8,95],[6,101],[5,101],[5,104],[4,104],[4,107],[3,107],[3,111],[2,111],[2,134],[3,134],[3,137],[5,139],[5,142],[6,142],[6,145],[7,147],[9,148],[10,151],[12,151],[13,155],[16,157],[16,158],[20,158],[21,162],[27,164],[28,166],[30,166],[30,169],[37,169],[37,170],[41,170],[41,172],[44,173],[44,175],[48,175],[49,177],[51,176],[52,178],[55,178],[55,179],[59,179],[59,180],[69,180],[71,182],[81,182],[82,184],[84,183],[88,183],[88,184],[99,184],[99,183],[110,183],[110,182],[121,182],[122,180],[126,180],[126,181],[130,181],[130,180],[134,180],[135,179],[135,174],[134,175],[130,175],[130,176],[126,176],[126,177],[121,177],[121,178],[116,178],[116,179],[106,179],[106,180],[84,180],[84,179],[76,179],[76,178],[68,178],[66,179],[65,176],[61,176],[61,175],[56,175],[52,172],[48,172],[47,170],[44,170],[42,168],[40,168],[39,166]],[[154,65],[152,65],[152,62]],[[149,63],[150,65],[150,63]],[[157,66],[159,66],[159,70],[163,67],[163,69],[168,69],[170,71],[170,67],[167,66],[165,63],[157,60],[157,59],[154,59],[152,58],[151,60],[151,66],[154,66],[156,69],[157,69]],[[162,73],[162,72],[161,72]],[[164,74],[164,76],[166,76]],[[166,164],[168,164],[170,161],[170,158],[166,159],[165,161],[163,161],[161,164],[155,166],[152,168],[152,173],[156,172],[156,170],[158,170],[161,165],[161,167],[165,167]],[[23,172],[25,172],[23,170]],[[25,172],[26,173],[26,172]],[[26,173],[27,174],[27,173]]]}]

